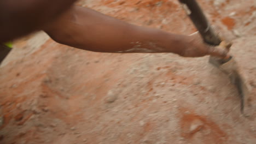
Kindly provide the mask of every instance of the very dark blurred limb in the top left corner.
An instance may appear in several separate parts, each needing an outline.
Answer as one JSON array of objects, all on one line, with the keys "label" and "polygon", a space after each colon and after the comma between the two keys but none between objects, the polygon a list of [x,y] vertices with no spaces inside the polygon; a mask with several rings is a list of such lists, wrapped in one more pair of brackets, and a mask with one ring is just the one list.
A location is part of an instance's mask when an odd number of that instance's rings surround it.
[{"label": "very dark blurred limb in the top left corner", "polygon": [[0,0],[0,43],[41,30],[76,0]]}]

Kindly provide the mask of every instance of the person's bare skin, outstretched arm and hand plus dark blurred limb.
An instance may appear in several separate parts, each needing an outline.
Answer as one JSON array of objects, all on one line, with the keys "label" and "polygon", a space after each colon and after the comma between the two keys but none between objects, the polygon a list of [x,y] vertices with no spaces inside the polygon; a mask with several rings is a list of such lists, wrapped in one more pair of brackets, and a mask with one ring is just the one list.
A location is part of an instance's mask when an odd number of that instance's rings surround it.
[{"label": "person's bare skin, outstretched arm and hand plus dark blurred limb", "polygon": [[[0,0],[0,31],[3,33],[0,42],[43,29],[57,43],[95,52],[172,52],[184,57],[227,57],[223,47],[204,44],[199,34],[178,35],[131,25],[88,8],[73,6],[74,0],[25,0],[11,6],[14,1]],[[18,2],[23,3],[22,6]]]}]

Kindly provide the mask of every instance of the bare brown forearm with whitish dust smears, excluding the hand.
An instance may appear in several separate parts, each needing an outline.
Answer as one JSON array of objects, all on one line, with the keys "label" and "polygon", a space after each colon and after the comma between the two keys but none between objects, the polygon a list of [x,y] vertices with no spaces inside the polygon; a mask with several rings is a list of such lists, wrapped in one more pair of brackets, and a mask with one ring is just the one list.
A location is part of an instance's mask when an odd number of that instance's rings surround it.
[{"label": "bare brown forearm with whitish dust smears, excluding the hand", "polygon": [[98,13],[73,7],[45,29],[55,41],[96,52],[179,53],[182,35],[139,27]]}]

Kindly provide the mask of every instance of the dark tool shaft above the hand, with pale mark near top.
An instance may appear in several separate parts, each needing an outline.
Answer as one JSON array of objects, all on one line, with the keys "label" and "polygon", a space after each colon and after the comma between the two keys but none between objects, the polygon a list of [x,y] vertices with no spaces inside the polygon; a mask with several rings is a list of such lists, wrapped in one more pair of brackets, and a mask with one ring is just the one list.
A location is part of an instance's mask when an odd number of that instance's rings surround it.
[{"label": "dark tool shaft above the hand, with pale mark near top", "polygon": [[179,0],[179,2],[181,2],[183,5],[183,8],[193,21],[205,43],[210,45],[219,45],[222,40],[219,38],[219,35],[213,31],[210,23],[208,22],[205,14],[203,14],[203,11],[196,0]]}]

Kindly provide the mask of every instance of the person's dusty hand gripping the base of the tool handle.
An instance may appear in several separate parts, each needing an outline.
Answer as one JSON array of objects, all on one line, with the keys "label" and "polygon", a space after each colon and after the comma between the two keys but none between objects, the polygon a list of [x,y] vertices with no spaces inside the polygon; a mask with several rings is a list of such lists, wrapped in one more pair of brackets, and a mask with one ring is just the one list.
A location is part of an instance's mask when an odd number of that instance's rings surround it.
[{"label": "person's dusty hand gripping the base of the tool handle", "polygon": [[203,57],[211,55],[215,57],[228,58],[231,44],[223,41],[219,46],[207,45],[203,42],[198,32],[184,38],[183,49],[180,53],[183,57]]}]

